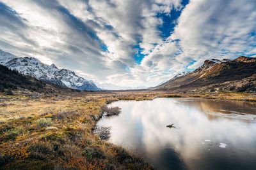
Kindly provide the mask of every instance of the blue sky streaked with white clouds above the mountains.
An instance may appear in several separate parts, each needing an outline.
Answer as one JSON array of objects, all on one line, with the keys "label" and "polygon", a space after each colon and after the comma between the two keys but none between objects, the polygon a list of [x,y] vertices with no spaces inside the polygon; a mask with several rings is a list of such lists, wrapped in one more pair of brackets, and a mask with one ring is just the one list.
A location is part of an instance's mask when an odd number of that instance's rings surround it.
[{"label": "blue sky streaked with white clouds above the mountains", "polygon": [[98,83],[153,87],[256,55],[255,0],[0,0],[0,49]]}]

